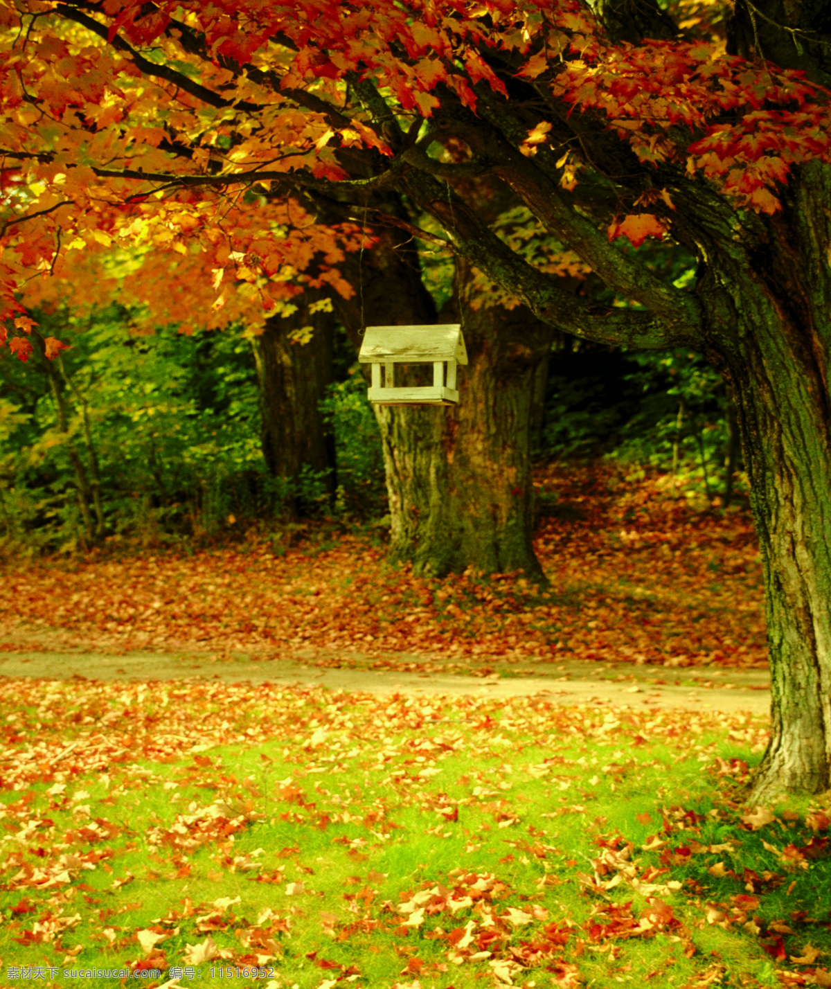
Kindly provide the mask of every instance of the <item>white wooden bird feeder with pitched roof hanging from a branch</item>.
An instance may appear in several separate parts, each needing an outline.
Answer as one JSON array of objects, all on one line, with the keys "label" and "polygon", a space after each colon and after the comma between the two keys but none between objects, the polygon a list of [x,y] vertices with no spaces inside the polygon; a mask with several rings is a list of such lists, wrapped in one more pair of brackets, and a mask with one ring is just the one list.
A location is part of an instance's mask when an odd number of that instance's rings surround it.
[{"label": "white wooden bird feeder with pitched roof hanging from a branch", "polygon": [[[459,401],[456,366],[467,364],[467,350],[457,322],[367,326],[358,360],[372,365],[367,397],[374,405],[452,405]],[[397,364],[432,364],[432,385],[396,388]]]}]

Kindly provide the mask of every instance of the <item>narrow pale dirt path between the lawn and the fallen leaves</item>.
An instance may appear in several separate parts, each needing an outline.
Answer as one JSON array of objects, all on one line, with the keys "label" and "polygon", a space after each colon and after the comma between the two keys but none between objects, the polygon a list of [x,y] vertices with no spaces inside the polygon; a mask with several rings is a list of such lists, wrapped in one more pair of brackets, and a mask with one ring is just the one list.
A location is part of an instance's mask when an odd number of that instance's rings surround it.
[{"label": "narrow pale dirt path between the lawn and the fallen leaves", "polygon": [[[266,659],[176,651],[27,652],[17,645],[0,653],[0,675],[103,680],[220,679],[227,682],[322,685],[371,693],[487,694],[495,697],[539,695],[561,704],[612,704],[622,707],[681,708],[700,711],[770,711],[770,675],[764,670],[687,667],[668,669],[631,664],[569,662],[467,667],[451,672],[440,658],[395,654],[377,669],[378,658],[359,654],[292,652]],[[369,669],[370,666],[376,669]],[[401,669],[413,666],[414,672]],[[446,666],[448,669],[442,669]],[[458,664],[456,664],[458,668]],[[422,672],[418,672],[421,668]],[[424,668],[427,672],[423,672]],[[490,671],[494,671],[491,673]],[[474,674],[474,675],[472,675]]]}]

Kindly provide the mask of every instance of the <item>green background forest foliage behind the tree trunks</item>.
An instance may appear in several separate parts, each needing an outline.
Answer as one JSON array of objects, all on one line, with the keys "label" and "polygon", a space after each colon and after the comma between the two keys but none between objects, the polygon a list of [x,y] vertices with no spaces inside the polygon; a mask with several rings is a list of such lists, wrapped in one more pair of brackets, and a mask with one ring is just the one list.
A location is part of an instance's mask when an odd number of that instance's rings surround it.
[{"label": "green background forest foliage behind the tree trunks", "polygon": [[[453,290],[451,266],[428,255],[424,262],[440,306]],[[33,315],[43,335],[71,349],[53,362],[0,360],[5,553],[187,546],[315,519],[383,532],[380,433],[341,328],[323,402],[336,450],[332,484],[308,468],[288,481],[269,474],[257,339],[244,326],[147,333],[139,311],[117,304],[78,313],[67,302]],[[689,349],[623,352],[563,334],[544,396],[534,415],[538,463],[614,458],[672,473],[679,496],[701,507],[744,497],[732,403]]]}]

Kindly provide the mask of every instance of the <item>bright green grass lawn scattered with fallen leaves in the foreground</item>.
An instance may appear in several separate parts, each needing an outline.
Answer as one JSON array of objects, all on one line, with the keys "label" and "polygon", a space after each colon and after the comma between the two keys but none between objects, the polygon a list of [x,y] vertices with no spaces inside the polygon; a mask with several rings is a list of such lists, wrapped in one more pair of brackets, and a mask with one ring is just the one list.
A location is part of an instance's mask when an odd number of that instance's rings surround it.
[{"label": "bright green grass lawn scattered with fallen leaves in the foreground", "polygon": [[748,716],[5,679],[0,725],[4,984],[831,985],[828,819],[742,806]]}]

